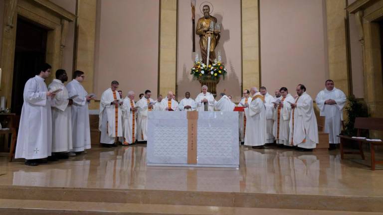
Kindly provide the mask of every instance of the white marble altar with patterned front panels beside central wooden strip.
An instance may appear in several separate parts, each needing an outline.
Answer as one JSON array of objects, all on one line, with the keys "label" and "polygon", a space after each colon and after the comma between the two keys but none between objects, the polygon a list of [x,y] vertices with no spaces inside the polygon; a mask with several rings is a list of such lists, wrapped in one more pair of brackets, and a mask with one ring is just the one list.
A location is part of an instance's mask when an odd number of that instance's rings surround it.
[{"label": "white marble altar with patterned front panels beside central wooden strip", "polygon": [[187,111],[149,112],[148,166],[239,167],[238,112],[197,114],[196,163],[191,164]]}]

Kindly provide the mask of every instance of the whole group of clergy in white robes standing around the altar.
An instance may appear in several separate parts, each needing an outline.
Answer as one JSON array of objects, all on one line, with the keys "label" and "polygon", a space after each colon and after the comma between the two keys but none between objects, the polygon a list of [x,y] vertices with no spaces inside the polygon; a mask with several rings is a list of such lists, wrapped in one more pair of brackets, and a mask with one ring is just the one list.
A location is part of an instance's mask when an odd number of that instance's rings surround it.
[{"label": "whole group of clergy in white robes standing around the altar", "polygon": [[[15,158],[24,158],[30,166],[46,162],[44,158],[54,161],[84,154],[91,147],[88,104],[94,94],[88,94],[81,85],[84,72],[75,71],[73,80],[65,86],[67,73],[59,69],[56,79],[47,87],[45,79],[50,76],[50,70],[49,64],[43,64],[24,88]],[[320,115],[326,117],[325,132],[329,133],[333,149],[340,142],[346,96],[334,87],[332,80],[327,80],[325,86],[317,95],[316,104]],[[165,99],[159,95],[153,100],[150,90],[135,102],[135,92],[129,91],[123,98],[118,87],[119,83],[112,81],[111,87],[101,95],[99,130],[104,147],[145,143],[150,111],[233,111],[236,107],[224,93],[216,101],[207,92],[207,86],[201,87],[195,100],[186,92],[180,103],[171,91]],[[302,84],[297,86],[294,97],[285,87],[276,90],[275,97],[265,87],[260,91],[256,87],[244,90],[238,106],[243,107],[239,112],[239,139],[244,145],[259,149],[267,143],[276,143],[312,151],[319,142],[313,100]]]}]

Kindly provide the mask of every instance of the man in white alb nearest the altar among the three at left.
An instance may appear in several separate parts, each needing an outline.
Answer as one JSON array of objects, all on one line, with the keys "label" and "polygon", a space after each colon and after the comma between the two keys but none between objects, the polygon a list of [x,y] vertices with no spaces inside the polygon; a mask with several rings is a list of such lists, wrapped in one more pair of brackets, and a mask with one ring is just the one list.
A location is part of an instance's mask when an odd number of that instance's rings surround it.
[{"label": "man in white alb nearest the altar among the three at left", "polygon": [[84,72],[76,70],[73,73],[73,80],[66,85],[69,97],[77,96],[73,99],[70,106],[72,114],[72,140],[73,150],[69,156],[86,153],[85,149],[90,149],[90,124],[89,124],[89,102],[94,99],[94,95],[85,91],[81,83],[84,81]]}]

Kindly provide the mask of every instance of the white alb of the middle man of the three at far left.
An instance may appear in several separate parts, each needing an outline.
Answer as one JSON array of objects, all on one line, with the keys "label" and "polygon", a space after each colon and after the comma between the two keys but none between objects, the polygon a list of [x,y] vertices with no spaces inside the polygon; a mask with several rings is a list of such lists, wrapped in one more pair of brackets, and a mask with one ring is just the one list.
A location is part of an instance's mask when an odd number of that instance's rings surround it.
[{"label": "white alb of the middle man of the three at far left", "polygon": [[69,93],[64,84],[57,79],[50,83],[48,90],[57,93],[52,100],[52,152],[67,152],[73,149],[72,114],[69,104]]}]

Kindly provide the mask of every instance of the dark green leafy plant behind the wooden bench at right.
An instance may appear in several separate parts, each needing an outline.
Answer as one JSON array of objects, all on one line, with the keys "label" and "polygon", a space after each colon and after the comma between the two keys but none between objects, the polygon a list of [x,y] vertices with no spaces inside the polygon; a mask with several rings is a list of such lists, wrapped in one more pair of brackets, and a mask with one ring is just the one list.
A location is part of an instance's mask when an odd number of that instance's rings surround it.
[{"label": "dark green leafy plant behind the wooden bench at right", "polygon": [[345,124],[345,130],[343,131],[344,135],[356,136],[357,129],[354,128],[355,118],[356,117],[369,117],[369,112],[367,107],[358,102],[355,96],[350,96],[347,98],[348,105],[345,108],[348,115],[348,119]]}]

